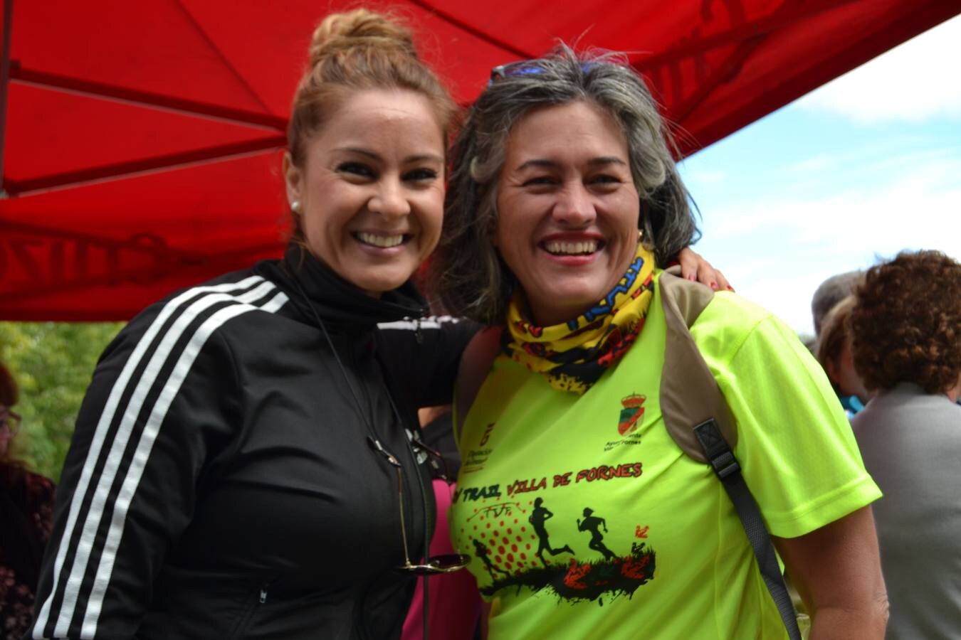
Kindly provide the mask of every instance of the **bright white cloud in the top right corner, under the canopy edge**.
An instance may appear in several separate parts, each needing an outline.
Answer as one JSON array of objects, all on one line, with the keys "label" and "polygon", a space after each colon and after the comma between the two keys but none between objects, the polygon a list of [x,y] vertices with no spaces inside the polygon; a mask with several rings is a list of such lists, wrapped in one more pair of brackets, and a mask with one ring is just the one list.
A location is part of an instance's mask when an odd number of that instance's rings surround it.
[{"label": "bright white cloud in the top right corner, under the canopy edge", "polygon": [[961,16],[807,94],[797,107],[856,122],[961,119]]}]

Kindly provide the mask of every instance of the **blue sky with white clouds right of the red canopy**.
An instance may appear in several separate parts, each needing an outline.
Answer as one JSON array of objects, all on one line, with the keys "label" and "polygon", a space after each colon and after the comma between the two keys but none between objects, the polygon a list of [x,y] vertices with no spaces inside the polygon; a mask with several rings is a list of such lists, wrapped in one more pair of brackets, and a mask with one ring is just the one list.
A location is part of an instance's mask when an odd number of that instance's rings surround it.
[{"label": "blue sky with white clouds right of the red canopy", "polygon": [[808,335],[834,273],[902,249],[961,260],[959,60],[961,16],[684,160],[694,249]]}]

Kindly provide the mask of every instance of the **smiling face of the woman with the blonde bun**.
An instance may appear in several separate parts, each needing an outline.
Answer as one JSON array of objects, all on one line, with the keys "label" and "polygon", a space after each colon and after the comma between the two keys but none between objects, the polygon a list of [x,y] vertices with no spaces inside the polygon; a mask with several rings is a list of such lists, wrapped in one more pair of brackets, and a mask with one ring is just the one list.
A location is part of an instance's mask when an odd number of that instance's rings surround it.
[{"label": "smiling face of the woman with the blonde bun", "polygon": [[370,296],[404,284],[440,237],[444,135],[430,101],[407,90],[353,91],[289,154],[289,201],[317,259]]}]

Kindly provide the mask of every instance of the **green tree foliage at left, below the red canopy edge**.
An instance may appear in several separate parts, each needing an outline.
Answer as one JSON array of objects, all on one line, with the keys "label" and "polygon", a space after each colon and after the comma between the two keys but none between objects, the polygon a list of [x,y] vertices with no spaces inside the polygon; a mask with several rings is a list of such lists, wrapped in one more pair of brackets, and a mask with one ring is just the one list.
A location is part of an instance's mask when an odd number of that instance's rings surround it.
[{"label": "green tree foliage at left, below the red canopy edge", "polygon": [[20,387],[12,455],[55,481],[97,358],[120,322],[0,322],[0,361]]}]

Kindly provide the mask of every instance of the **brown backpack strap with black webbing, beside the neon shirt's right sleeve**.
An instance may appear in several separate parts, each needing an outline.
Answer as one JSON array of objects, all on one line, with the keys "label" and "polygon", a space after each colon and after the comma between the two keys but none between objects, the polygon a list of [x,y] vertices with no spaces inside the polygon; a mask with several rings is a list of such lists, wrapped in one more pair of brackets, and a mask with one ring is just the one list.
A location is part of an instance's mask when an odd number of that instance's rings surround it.
[{"label": "brown backpack strap with black webbing, beside the neon shirt's right sleeve", "polygon": [[[709,463],[721,480],[751,542],[761,577],[775,601],[788,637],[801,640],[798,614],[777,564],[771,534],[731,450],[731,446],[737,443],[736,423],[689,329],[714,297],[714,292],[671,271],[661,273],[658,280],[667,319],[660,388],[664,424],[684,453],[694,460]],[[679,275],[679,268],[677,271]]]}]

